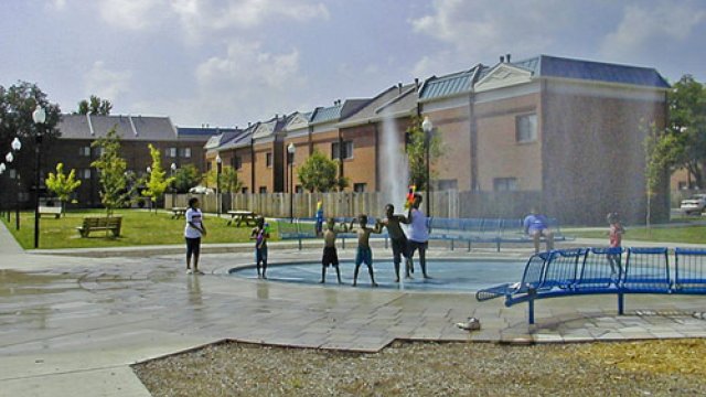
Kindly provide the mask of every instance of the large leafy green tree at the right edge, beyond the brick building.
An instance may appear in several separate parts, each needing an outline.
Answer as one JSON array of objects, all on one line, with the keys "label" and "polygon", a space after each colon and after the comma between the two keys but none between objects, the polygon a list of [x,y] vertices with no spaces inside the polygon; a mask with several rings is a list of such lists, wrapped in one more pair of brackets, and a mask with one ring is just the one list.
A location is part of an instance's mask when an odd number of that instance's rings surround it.
[{"label": "large leafy green tree at the right edge, beyond the brick building", "polygon": [[706,186],[706,86],[691,75],[683,76],[668,94],[667,135],[674,137],[671,151],[676,168],[685,168],[694,183]]}]

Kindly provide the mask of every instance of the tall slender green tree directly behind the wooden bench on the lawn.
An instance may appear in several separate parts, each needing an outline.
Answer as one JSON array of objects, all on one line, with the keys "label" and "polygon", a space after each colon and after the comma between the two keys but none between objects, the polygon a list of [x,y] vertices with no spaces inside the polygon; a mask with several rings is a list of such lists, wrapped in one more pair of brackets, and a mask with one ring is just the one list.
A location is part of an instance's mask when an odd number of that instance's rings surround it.
[{"label": "tall slender green tree directly behind the wooden bench on the lawn", "polygon": [[127,162],[120,157],[120,138],[115,127],[108,133],[98,138],[92,144],[100,148],[100,157],[90,163],[98,170],[100,181],[100,202],[106,207],[106,215],[113,215],[115,208],[129,202],[129,193],[126,191]]}]

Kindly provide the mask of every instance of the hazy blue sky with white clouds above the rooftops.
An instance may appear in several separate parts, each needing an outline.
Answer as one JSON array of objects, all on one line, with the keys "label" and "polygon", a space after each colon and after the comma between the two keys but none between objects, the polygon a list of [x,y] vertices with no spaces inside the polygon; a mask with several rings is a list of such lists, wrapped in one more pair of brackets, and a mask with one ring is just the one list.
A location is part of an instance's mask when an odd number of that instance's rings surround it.
[{"label": "hazy blue sky with white clouds above the rooftops", "polygon": [[0,85],[245,127],[539,54],[706,82],[706,0],[1,0]]}]

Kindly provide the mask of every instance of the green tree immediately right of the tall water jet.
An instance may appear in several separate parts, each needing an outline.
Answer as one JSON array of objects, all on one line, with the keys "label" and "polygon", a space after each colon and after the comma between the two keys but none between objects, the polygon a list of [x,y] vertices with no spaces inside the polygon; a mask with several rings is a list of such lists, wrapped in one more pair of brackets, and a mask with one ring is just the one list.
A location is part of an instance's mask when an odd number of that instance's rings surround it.
[{"label": "green tree immediately right of the tall water jet", "polygon": [[[421,117],[414,116],[409,127],[407,127],[407,161],[409,163],[409,184],[417,186],[417,190],[428,191],[427,184],[427,144],[429,144],[429,162],[434,164],[441,155],[441,136],[432,133],[427,143],[427,137],[421,129]],[[434,178],[434,174],[429,175]]]}]

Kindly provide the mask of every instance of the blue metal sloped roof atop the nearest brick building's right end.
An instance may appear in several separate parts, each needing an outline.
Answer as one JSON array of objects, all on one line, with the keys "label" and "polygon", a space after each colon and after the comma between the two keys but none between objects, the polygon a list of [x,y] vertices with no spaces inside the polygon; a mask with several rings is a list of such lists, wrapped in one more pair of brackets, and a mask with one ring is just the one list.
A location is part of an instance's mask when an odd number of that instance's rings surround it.
[{"label": "blue metal sloped roof atop the nearest brick building's right end", "polygon": [[527,68],[535,76],[543,77],[563,77],[656,88],[670,87],[666,79],[652,67],[573,60],[550,55],[539,55],[530,60],[513,62],[513,65]]}]

